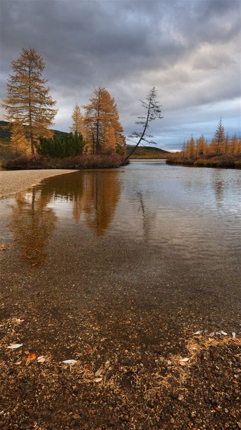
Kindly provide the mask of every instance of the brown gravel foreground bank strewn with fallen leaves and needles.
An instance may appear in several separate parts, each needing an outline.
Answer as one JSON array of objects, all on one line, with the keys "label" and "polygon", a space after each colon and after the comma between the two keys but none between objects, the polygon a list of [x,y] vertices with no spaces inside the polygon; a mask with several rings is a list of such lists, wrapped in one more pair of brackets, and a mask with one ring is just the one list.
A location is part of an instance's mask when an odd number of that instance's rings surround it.
[{"label": "brown gravel foreground bank strewn with fallen leaves and needles", "polygon": [[29,325],[41,330],[38,319],[21,313],[1,325],[2,428],[241,428],[234,334],[188,331],[183,351],[169,357],[141,344],[104,352],[104,340],[83,350],[76,340],[75,359],[64,363],[30,339],[11,348]]}]

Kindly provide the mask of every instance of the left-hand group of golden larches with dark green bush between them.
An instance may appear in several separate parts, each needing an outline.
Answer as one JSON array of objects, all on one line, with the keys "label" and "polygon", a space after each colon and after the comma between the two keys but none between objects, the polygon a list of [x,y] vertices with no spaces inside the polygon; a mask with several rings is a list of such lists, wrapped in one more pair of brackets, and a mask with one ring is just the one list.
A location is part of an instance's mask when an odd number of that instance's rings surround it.
[{"label": "left-hand group of golden larches with dark green bush between them", "polygon": [[71,157],[82,153],[98,155],[114,151],[123,155],[126,139],[119,121],[115,100],[107,89],[94,89],[89,103],[76,104],[70,130],[73,134],[54,137],[50,127],[57,114],[47,80],[42,77],[43,58],[36,50],[23,48],[20,57],[11,63],[13,73],[7,82],[7,98],[2,107],[11,124],[8,148],[15,155],[39,154]]}]

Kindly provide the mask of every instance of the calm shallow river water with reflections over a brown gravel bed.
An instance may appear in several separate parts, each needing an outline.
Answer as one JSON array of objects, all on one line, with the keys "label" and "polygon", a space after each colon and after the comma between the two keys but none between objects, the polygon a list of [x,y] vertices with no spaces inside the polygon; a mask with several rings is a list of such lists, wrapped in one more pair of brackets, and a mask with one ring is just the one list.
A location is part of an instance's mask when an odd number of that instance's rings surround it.
[{"label": "calm shallow river water with reflections over a brown gravel bed", "polygon": [[240,190],[238,170],[148,161],[2,199],[3,317],[56,354],[78,337],[165,355],[186,330],[237,331]]}]

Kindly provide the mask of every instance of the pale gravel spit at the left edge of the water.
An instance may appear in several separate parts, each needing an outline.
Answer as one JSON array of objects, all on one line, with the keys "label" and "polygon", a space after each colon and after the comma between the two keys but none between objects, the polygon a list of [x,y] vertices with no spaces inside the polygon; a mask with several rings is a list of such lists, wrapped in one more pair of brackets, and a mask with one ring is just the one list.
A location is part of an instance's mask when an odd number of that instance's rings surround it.
[{"label": "pale gravel spit at the left edge of the water", "polygon": [[0,171],[0,197],[17,194],[25,188],[38,184],[49,176],[71,173],[76,170],[43,169],[43,170],[2,170]]}]

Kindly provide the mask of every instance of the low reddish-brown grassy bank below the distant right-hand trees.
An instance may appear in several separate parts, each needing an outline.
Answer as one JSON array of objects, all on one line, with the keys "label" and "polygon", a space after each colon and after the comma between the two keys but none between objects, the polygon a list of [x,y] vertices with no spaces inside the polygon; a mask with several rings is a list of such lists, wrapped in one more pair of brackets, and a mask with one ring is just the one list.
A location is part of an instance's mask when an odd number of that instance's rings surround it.
[{"label": "low reddish-brown grassy bank below the distant right-hand trees", "polygon": [[194,167],[221,167],[221,168],[241,168],[241,154],[224,154],[220,156],[202,156],[202,157],[183,157],[173,156],[166,161],[167,164],[183,164]]}]

